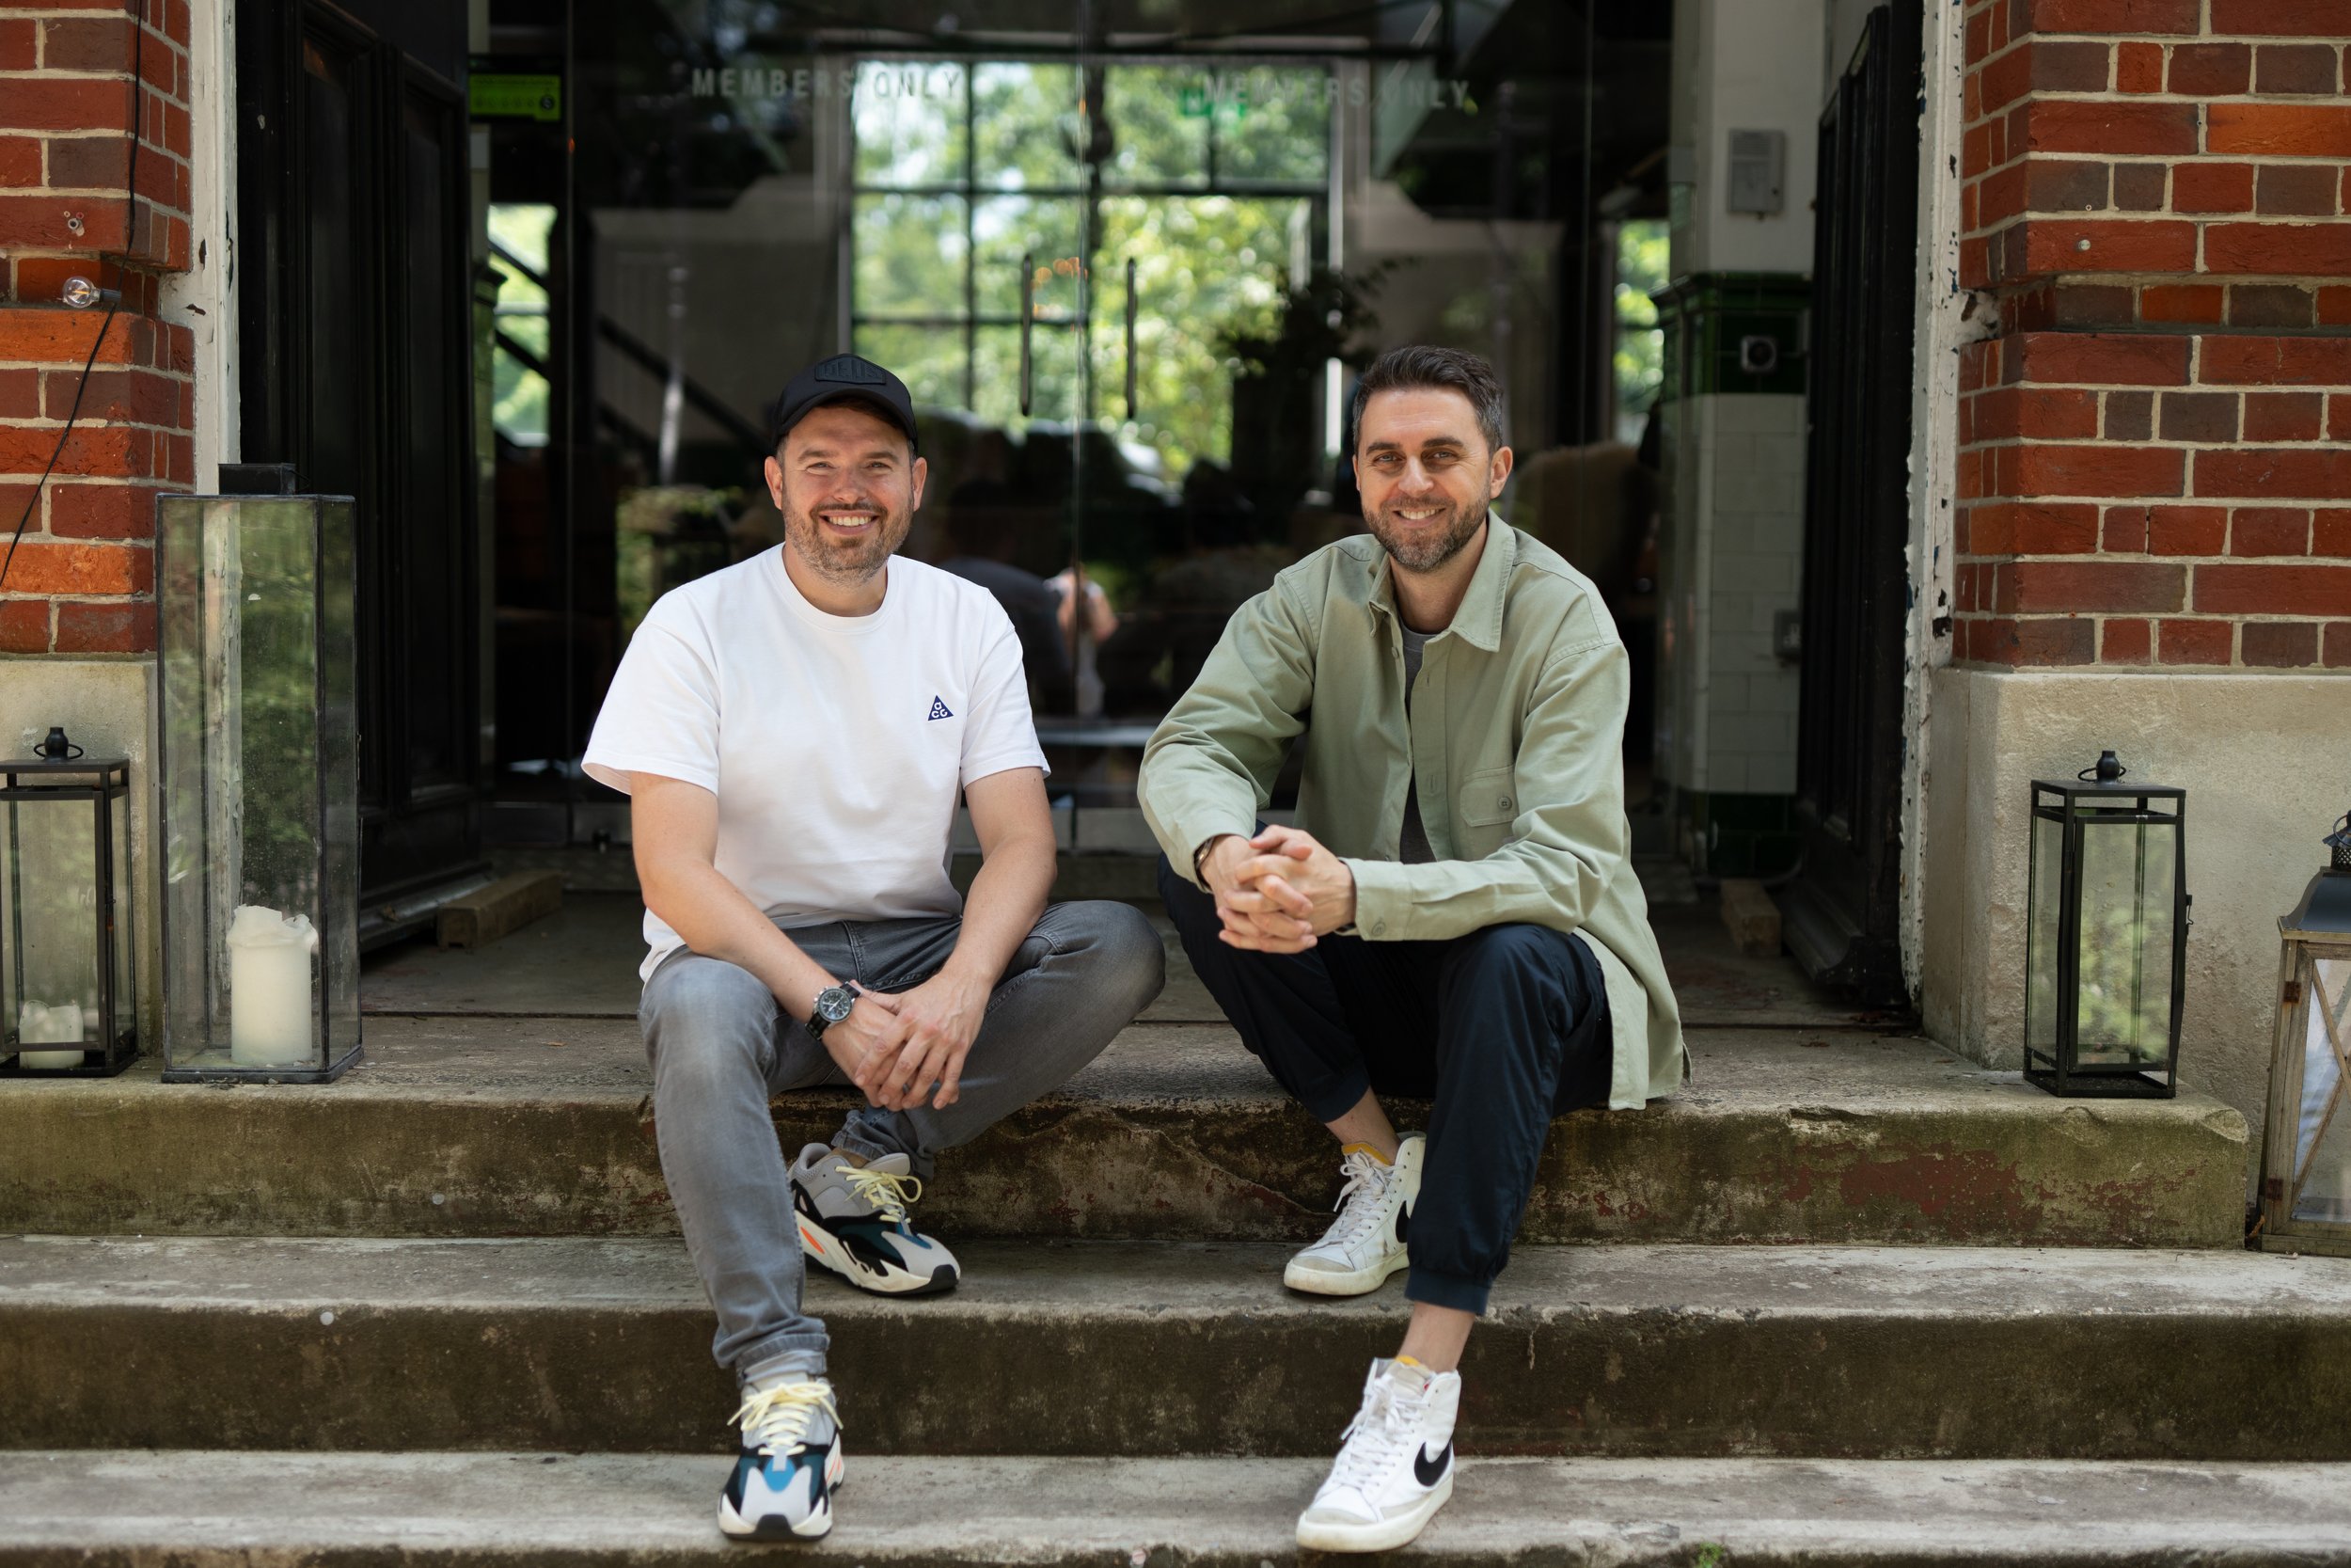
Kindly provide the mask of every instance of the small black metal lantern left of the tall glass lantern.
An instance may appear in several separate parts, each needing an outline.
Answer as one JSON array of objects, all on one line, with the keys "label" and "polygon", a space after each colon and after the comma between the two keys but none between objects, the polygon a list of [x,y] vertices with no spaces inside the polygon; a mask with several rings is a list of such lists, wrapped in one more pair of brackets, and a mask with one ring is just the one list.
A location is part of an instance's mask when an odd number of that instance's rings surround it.
[{"label": "small black metal lantern left of the tall glass lantern", "polygon": [[0,759],[0,1077],[110,1077],[139,1056],[129,762],[52,729]]}]

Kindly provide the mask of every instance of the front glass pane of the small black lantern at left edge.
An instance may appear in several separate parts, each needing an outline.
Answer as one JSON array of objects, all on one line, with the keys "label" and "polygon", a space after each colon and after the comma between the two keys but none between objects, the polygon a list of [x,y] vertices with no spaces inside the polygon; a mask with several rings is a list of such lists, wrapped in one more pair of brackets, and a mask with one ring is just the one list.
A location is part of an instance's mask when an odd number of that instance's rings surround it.
[{"label": "front glass pane of the small black lantern at left edge", "polygon": [[[87,799],[0,806],[7,1027],[24,1067],[80,1067],[99,1030],[99,842]],[[66,1046],[40,1051],[40,1046]]]}]

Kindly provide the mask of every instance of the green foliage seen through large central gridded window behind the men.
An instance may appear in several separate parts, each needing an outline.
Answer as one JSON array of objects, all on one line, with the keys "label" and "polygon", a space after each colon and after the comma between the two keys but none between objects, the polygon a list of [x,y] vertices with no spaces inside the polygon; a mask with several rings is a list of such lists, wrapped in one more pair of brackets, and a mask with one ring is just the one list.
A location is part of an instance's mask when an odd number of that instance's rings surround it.
[{"label": "green foliage seen through large central gridded window behind the men", "polygon": [[[907,92],[910,80],[919,92]],[[1027,259],[1030,418],[1107,423],[1154,447],[1171,477],[1199,458],[1225,461],[1234,360],[1225,339],[1274,331],[1286,280],[1314,254],[1331,141],[1324,80],[1317,68],[1121,63],[1091,85],[1096,115],[1074,66],[863,66],[853,108],[865,188],[853,237],[858,353],[896,369],[917,402],[1020,428]],[[1215,179],[1295,183],[1298,193],[1223,195]],[[1124,395],[1128,261],[1133,418]]]}]

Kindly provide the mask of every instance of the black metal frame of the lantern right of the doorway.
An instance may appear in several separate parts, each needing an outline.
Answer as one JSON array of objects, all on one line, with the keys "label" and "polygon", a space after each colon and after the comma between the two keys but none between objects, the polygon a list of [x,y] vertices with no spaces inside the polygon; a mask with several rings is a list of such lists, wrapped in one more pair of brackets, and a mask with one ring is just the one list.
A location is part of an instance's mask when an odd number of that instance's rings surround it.
[{"label": "black metal frame of the lantern right of the doorway", "polygon": [[[2135,804],[2123,804],[2135,802]],[[2172,802],[2156,811],[2149,802]],[[2036,823],[2057,823],[2057,1041],[2052,1053],[2034,1046],[2031,1004],[2024,1009],[2024,1079],[2052,1095],[2081,1100],[2170,1100],[2179,1093],[2179,1009],[2189,964],[2189,832],[2186,790],[2097,780],[2034,780]],[[2081,858],[2088,827],[2170,827],[2172,832],[2172,985],[2170,1034],[2161,1077],[2149,1067],[2081,1063]],[[2041,903],[2038,856],[2027,846],[2024,875],[2024,983],[2034,973],[2034,910]]]}]

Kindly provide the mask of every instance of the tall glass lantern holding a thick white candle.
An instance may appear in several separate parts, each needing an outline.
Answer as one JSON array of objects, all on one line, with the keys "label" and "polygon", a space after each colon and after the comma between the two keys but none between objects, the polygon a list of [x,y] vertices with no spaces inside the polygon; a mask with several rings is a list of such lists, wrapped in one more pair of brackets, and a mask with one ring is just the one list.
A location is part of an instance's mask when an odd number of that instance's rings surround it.
[{"label": "tall glass lantern holding a thick white candle", "polygon": [[324,1084],[360,1058],[348,496],[165,496],[165,1081]]}]

